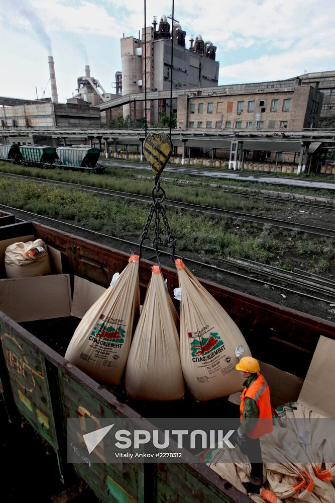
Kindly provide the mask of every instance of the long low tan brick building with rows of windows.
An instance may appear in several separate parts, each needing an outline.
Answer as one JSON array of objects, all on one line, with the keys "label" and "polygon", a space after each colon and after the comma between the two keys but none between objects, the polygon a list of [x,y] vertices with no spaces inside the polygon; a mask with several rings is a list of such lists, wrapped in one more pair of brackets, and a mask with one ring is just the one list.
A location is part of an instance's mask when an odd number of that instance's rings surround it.
[{"label": "long low tan brick building with rows of windows", "polygon": [[[285,82],[285,81],[281,81]],[[317,127],[322,107],[318,83],[246,89],[219,86],[212,90],[189,90],[178,97],[177,127],[191,130],[301,131]],[[242,88],[242,89],[239,89]]]}]

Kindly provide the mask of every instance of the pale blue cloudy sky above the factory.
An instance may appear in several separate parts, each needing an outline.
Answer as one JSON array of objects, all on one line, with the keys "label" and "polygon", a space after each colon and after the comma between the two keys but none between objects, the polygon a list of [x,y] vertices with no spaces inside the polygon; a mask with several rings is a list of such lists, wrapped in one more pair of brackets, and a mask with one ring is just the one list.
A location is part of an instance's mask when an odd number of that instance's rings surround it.
[{"label": "pale blue cloudy sky above the factory", "polygon": [[[157,5],[146,2],[147,26],[172,13],[172,0]],[[187,48],[191,34],[217,46],[219,85],[335,70],[333,0],[175,0],[174,17]],[[141,0],[0,0],[0,96],[51,96],[51,53],[60,102],[86,64],[115,93],[120,38],[138,37],[143,26]]]}]

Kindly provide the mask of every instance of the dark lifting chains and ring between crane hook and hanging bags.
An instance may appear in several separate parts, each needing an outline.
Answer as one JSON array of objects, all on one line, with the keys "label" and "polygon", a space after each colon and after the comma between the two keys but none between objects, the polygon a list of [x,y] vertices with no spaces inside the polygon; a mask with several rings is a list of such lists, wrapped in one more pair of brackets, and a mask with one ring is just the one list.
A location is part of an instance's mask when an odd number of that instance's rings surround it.
[{"label": "dark lifting chains and ring between crane hook and hanging bags", "polygon": [[[158,197],[159,192],[162,193],[161,197]],[[176,239],[174,238],[174,236],[172,234],[172,231],[171,231],[171,228],[170,228],[167,216],[166,216],[165,209],[162,206],[162,203],[165,201],[165,191],[160,186],[160,175],[157,175],[155,177],[155,186],[152,189],[152,199],[153,199],[153,203],[150,207],[149,215],[148,215],[146,224],[143,227],[143,231],[142,231],[142,236],[141,236],[141,240],[140,240],[139,256],[141,259],[142,258],[143,241],[147,238],[150,224],[151,224],[153,218],[155,217],[154,218],[155,237],[153,239],[152,245],[156,251],[156,258],[157,258],[158,265],[159,265],[159,267],[161,267],[161,263],[159,260],[159,248],[161,246],[163,246],[163,242],[161,240],[161,234],[160,234],[160,223],[161,223],[160,219],[161,219],[161,217],[162,217],[162,221],[165,226],[165,230],[166,230],[167,237],[168,237],[167,246],[169,248],[172,248],[171,256],[172,256],[173,262],[175,261]]]}]

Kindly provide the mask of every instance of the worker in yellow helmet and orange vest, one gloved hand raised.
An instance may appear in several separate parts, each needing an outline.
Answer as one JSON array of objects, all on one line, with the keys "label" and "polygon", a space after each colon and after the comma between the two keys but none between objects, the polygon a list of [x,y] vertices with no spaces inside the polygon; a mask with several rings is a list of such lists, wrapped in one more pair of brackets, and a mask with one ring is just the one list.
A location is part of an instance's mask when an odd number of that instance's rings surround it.
[{"label": "worker in yellow helmet and orange vest, one gloved hand raised", "polygon": [[[270,390],[260,373],[259,362],[251,356],[242,358],[243,346],[236,348],[235,354],[239,360],[235,368],[245,378],[243,383],[245,389],[241,395],[241,425],[234,438],[238,442],[240,450],[247,454],[249,459],[258,460],[258,462],[250,463],[250,482],[244,486],[248,493],[259,493],[264,483],[260,437],[273,430]],[[231,438],[234,442],[233,436]]]}]

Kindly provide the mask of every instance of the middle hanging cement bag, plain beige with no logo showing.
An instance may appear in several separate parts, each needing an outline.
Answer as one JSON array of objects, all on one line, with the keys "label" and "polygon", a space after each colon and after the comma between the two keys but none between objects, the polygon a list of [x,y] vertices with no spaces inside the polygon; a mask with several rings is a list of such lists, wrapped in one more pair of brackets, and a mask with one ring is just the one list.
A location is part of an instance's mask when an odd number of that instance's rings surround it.
[{"label": "middle hanging cement bag, plain beige with no logo showing", "polygon": [[178,400],[184,396],[176,316],[158,266],[137,324],[126,367],[128,396],[138,400]]}]

